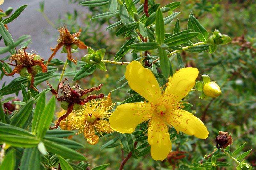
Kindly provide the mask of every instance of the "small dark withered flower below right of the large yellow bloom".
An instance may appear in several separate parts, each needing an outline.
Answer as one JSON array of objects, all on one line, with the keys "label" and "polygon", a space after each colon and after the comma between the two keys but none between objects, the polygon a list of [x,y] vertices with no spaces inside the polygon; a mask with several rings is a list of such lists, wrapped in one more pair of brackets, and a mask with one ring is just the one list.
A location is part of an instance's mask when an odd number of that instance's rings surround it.
[{"label": "small dark withered flower below right of the large yellow bloom", "polygon": [[228,132],[219,131],[219,135],[215,138],[216,148],[226,148],[233,143],[232,136]]}]

